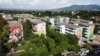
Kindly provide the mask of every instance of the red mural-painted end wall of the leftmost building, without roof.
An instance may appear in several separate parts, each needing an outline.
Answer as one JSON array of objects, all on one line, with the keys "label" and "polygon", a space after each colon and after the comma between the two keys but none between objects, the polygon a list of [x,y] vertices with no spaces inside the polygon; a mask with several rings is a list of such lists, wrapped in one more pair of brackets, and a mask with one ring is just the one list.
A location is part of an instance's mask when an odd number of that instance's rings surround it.
[{"label": "red mural-painted end wall of the leftmost building, without roof", "polygon": [[18,42],[23,37],[23,28],[21,25],[14,25],[10,27],[10,41]]}]

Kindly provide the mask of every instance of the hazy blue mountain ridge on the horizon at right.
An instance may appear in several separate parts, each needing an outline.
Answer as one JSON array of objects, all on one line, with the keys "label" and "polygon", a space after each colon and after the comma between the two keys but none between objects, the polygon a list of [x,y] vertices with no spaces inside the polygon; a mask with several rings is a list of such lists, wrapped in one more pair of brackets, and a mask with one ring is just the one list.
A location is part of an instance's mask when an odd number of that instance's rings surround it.
[{"label": "hazy blue mountain ridge on the horizon at right", "polygon": [[69,7],[63,7],[63,8],[57,8],[53,9],[54,11],[94,11],[94,10],[100,10],[99,5],[71,5]]}]

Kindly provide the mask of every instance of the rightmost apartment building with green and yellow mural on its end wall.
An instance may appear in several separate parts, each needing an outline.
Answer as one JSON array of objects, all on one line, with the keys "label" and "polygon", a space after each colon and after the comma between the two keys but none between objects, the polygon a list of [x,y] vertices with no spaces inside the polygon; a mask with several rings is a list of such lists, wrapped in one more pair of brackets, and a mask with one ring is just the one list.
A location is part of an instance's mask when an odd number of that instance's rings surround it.
[{"label": "rightmost apartment building with green and yellow mural on its end wall", "polygon": [[83,28],[83,37],[93,39],[95,25],[92,21],[82,19],[71,19],[69,23],[78,25]]}]

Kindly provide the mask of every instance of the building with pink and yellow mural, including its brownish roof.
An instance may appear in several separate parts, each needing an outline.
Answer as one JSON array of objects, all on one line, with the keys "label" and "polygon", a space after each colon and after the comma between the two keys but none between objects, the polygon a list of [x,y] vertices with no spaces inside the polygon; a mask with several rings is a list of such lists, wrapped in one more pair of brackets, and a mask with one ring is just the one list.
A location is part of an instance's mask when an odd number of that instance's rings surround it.
[{"label": "building with pink and yellow mural, including its brownish roof", "polygon": [[32,28],[33,28],[33,33],[35,34],[44,34],[46,35],[46,23],[39,20],[39,19],[32,19],[30,20],[30,22],[32,23]]}]

